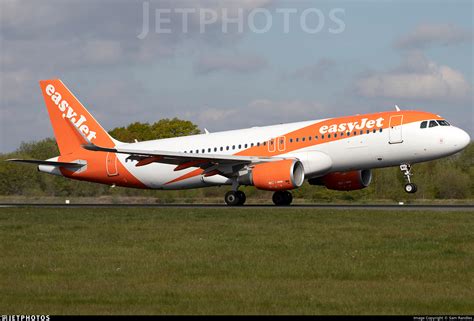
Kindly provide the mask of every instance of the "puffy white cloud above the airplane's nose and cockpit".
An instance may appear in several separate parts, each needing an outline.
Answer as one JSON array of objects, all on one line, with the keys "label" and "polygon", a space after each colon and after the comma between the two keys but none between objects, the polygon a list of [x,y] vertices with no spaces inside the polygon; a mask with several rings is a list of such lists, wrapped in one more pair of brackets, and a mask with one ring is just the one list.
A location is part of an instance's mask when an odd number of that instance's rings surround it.
[{"label": "puffy white cloud above the airplane's nose and cockpit", "polygon": [[394,70],[361,75],[355,90],[369,98],[442,101],[468,101],[473,92],[461,72],[430,61],[420,52],[408,54]]}]

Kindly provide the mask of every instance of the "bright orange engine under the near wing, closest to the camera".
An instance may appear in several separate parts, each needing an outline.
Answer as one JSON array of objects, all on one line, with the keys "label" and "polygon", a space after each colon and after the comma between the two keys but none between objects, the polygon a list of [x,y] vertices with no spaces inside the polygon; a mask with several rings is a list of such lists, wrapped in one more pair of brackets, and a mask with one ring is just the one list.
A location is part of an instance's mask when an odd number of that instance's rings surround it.
[{"label": "bright orange engine under the near wing, closest to the camera", "polygon": [[292,159],[262,163],[240,176],[238,182],[266,191],[286,191],[303,185],[304,168],[299,160]]}]

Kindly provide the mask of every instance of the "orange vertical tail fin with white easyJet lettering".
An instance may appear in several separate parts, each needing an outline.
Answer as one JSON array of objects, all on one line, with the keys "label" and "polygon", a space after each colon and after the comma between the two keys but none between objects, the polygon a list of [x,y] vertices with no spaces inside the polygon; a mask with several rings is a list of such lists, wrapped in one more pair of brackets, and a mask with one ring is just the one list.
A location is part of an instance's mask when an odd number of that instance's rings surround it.
[{"label": "orange vertical tail fin with white easyJet lettering", "polygon": [[[49,118],[61,155],[71,154],[84,144],[84,138],[99,146],[114,147],[114,140],[59,79],[41,80]],[[76,126],[78,130],[72,126]]]}]

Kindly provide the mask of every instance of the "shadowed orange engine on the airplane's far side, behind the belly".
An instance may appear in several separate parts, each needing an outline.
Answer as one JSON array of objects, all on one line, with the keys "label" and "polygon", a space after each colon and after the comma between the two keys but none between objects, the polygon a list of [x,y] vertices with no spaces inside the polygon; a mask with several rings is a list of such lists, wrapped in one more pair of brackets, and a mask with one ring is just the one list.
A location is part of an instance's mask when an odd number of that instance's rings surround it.
[{"label": "shadowed orange engine on the airplane's far side, behind the belly", "polygon": [[310,179],[311,185],[323,185],[336,191],[355,191],[366,188],[372,181],[372,171],[364,169],[351,172],[334,172],[323,177]]}]

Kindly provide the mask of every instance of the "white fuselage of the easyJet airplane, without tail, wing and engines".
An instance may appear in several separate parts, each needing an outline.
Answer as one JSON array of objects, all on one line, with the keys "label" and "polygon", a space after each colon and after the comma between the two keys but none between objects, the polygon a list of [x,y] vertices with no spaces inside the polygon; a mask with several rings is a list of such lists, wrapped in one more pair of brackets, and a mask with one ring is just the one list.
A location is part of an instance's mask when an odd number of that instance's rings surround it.
[{"label": "white fuselage of the easyJet airplane, without tail, wing and engines", "polygon": [[[427,120],[429,121],[430,118],[428,117]],[[337,139],[333,137],[328,139],[327,132],[325,138],[322,138],[321,132],[311,132],[297,137],[299,130],[317,126],[324,121],[328,120],[144,141],[127,144],[127,148],[193,154],[251,155],[251,153],[246,153],[251,146],[257,146],[259,143],[262,147],[265,142],[268,152],[266,156],[298,158],[305,167],[305,177],[311,178],[329,172],[389,167],[401,163],[413,164],[433,160],[460,151],[470,141],[464,131],[454,126],[421,129],[422,120],[390,126],[389,119],[385,119],[384,128],[363,128],[362,133],[357,129],[356,135],[343,134],[343,137],[338,136]],[[340,132],[337,134],[341,135]],[[272,140],[274,143],[271,143]],[[293,145],[296,144],[302,144],[302,146],[295,148]],[[175,171],[176,165],[161,163],[136,167],[136,161],[127,160],[127,155],[124,154],[118,155],[118,160],[142,183],[153,189],[184,189],[231,184],[231,180],[220,175],[208,179],[202,175],[190,175],[195,168]],[[183,176],[184,179],[179,179]],[[170,183],[174,180],[176,181]]]}]

